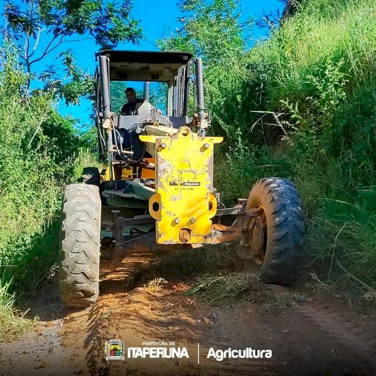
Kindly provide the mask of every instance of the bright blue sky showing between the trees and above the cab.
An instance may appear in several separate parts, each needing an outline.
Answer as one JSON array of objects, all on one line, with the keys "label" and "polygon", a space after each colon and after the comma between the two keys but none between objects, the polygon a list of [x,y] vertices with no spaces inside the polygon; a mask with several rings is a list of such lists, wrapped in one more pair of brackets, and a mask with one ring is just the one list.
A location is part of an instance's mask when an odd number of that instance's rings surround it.
[{"label": "bright blue sky showing between the trees and above the cab", "polygon": [[[16,3],[20,0],[15,0]],[[0,0],[0,4],[2,0]],[[133,17],[141,21],[141,26],[144,30],[145,40],[140,44],[133,45],[131,43],[122,43],[117,49],[124,50],[156,50],[154,41],[168,34],[168,30],[174,30],[178,23],[176,18],[180,16],[179,8],[177,6],[177,0],[134,0]],[[283,9],[283,5],[279,0],[241,0],[241,6],[244,10],[243,18],[247,19],[251,16],[257,17],[263,10],[265,12],[275,11]],[[254,30],[254,38],[260,38],[263,36],[263,31],[259,29]],[[43,47],[43,39],[40,41],[41,47]],[[93,41],[84,41],[78,43],[72,43],[69,46],[77,60],[77,63],[86,71],[90,73],[94,72],[95,59],[94,54],[98,50],[98,46]],[[57,52],[58,53],[58,52]],[[51,55],[46,58],[43,64],[36,66],[38,70],[43,70],[46,65],[56,64],[56,55]],[[81,101],[78,106],[66,107],[62,102],[59,104],[59,111],[63,115],[71,115],[76,119],[79,119],[81,125],[87,124],[89,121],[89,114],[91,110],[91,103],[87,100]]]}]

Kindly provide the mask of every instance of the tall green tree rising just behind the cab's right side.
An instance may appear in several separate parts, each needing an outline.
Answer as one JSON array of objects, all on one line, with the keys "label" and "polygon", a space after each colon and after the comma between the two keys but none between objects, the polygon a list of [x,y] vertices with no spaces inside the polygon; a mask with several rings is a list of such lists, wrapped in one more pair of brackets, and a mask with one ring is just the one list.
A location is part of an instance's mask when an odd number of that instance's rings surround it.
[{"label": "tall green tree rising just behind the cab's right side", "polygon": [[180,0],[180,27],[157,40],[163,51],[187,51],[204,64],[205,105],[212,111],[212,131],[236,137],[249,123],[249,72],[246,51],[253,20],[242,21],[239,0]]}]

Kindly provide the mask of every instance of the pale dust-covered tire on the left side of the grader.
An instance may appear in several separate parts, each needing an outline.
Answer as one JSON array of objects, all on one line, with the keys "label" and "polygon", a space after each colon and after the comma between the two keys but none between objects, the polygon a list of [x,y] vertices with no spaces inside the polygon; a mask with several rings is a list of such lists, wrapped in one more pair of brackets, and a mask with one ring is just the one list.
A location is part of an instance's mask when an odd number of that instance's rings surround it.
[{"label": "pale dust-covered tire on the left side of the grader", "polygon": [[101,199],[98,186],[65,189],[60,233],[59,287],[70,307],[88,307],[99,294]]}]

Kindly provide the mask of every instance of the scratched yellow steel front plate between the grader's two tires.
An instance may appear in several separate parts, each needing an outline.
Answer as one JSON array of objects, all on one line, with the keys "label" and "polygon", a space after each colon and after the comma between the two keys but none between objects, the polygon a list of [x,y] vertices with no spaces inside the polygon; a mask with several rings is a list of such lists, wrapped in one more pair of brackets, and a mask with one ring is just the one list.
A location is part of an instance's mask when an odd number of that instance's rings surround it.
[{"label": "scratched yellow steel front plate between the grader's two tires", "polygon": [[[156,220],[157,244],[212,242],[212,221],[217,212],[213,194],[213,149],[223,137],[200,137],[189,127],[149,127],[140,135],[155,152],[155,194],[149,213]],[[172,132],[171,132],[172,130]]]}]

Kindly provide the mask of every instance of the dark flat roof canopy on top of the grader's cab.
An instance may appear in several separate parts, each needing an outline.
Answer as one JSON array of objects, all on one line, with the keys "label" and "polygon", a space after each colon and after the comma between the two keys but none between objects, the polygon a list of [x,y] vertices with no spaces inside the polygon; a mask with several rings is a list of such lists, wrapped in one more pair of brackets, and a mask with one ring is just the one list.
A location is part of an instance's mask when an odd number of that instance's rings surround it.
[{"label": "dark flat roof canopy on top of the grader's cab", "polygon": [[185,52],[103,50],[109,58],[110,81],[171,81],[192,54]]}]

